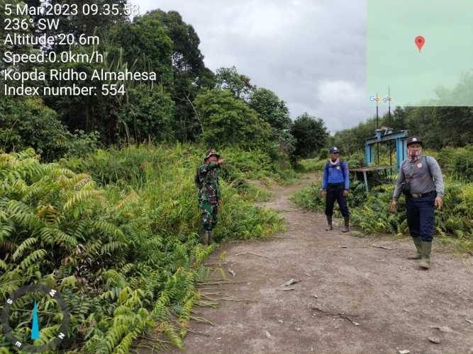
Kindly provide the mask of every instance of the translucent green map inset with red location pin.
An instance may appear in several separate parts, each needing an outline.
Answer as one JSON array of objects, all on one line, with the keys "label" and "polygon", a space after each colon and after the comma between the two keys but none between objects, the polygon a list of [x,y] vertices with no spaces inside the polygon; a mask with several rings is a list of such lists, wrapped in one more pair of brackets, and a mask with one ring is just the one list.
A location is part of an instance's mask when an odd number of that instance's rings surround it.
[{"label": "translucent green map inset with red location pin", "polygon": [[473,0],[367,1],[368,101],[473,105]]}]

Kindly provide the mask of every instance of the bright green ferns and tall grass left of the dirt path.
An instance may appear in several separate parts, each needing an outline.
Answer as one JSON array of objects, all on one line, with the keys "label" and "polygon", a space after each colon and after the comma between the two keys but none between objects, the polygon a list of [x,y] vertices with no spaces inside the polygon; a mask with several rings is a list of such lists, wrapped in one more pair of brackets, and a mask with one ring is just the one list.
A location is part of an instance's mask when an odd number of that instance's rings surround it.
[{"label": "bright green ferns and tall grass left of the dirt path", "polygon": [[[128,147],[62,160],[62,166],[41,164],[33,149],[1,154],[0,297],[29,283],[59,287],[71,313],[67,350],[128,353],[154,326],[182,348],[199,299],[201,263],[214,249],[196,235],[193,176],[203,152]],[[130,169],[133,164],[138,168]],[[275,212],[252,206],[252,196],[224,179],[221,186],[216,239],[264,237],[284,228]],[[32,301],[24,299],[26,306]],[[177,319],[174,306],[182,307]],[[28,314],[19,316],[27,331]],[[40,341],[54,333],[51,319],[44,321]],[[0,343],[11,346],[3,335]]]}]

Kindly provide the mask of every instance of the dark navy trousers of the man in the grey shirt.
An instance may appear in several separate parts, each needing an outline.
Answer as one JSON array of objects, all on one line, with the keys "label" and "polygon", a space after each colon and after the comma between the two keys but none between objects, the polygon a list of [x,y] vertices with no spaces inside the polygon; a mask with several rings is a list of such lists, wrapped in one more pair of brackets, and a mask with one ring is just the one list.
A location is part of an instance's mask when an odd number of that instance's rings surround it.
[{"label": "dark navy trousers of the man in the grey shirt", "polygon": [[421,198],[406,197],[406,216],[411,236],[431,242],[435,212],[435,191]]}]

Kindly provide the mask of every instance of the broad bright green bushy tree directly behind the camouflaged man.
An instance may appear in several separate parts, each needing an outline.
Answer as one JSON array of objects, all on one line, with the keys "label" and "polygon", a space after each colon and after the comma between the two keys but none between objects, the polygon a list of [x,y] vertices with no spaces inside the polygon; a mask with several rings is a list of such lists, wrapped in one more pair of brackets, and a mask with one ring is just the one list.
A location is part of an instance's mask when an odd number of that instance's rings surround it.
[{"label": "broad bright green bushy tree directly behind the camouflaged man", "polygon": [[230,91],[213,89],[197,96],[194,105],[209,146],[236,145],[267,149],[271,127]]}]

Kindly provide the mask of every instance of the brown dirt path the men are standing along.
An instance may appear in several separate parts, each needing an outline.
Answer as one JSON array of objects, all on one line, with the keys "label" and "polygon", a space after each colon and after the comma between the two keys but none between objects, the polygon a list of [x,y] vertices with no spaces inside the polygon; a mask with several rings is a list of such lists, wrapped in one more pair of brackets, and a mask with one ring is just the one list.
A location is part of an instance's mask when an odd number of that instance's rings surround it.
[{"label": "brown dirt path the men are standing along", "polygon": [[[309,182],[274,187],[264,203],[286,218],[284,238],[226,244],[208,260],[226,251],[222,268],[238,282],[216,297],[251,301],[198,308],[214,326],[191,324],[199,333],[187,336],[186,353],[473,353],[473,257],[434,244],[423,271],[406,260],[411,242],[325,232],[323,215],[289,201]],[[282,291],[291,278],[294,290]]]}]

